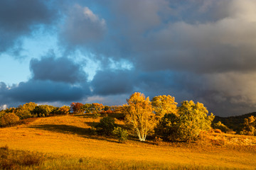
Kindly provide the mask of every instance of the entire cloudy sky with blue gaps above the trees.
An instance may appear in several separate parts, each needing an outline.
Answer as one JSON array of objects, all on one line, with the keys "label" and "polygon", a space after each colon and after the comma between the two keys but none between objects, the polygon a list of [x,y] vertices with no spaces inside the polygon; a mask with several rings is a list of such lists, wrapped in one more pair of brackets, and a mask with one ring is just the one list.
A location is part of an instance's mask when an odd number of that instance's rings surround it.
[{"label": "entire cloudy sky with blue gaps above the trees", "polygon": [[135,91],[256,111],[255,0],[1,0],[0,108]]}]

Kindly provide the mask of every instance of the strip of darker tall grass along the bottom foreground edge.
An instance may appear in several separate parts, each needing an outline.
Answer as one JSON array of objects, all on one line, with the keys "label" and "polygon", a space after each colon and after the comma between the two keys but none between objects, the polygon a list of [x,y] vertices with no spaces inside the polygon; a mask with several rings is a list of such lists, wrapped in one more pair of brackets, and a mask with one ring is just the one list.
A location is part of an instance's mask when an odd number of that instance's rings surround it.
[{"label": "strip of darker tall grass along the bottom foreground edge", "polygon": [[159,162],[134,161],[121,159],[97,159],[92,157],[73,157],[69,155],[50,156],[28,151],[0,148],[0,169],[228,169],[219,166],[198,166],[191,164],[164,164]]}]

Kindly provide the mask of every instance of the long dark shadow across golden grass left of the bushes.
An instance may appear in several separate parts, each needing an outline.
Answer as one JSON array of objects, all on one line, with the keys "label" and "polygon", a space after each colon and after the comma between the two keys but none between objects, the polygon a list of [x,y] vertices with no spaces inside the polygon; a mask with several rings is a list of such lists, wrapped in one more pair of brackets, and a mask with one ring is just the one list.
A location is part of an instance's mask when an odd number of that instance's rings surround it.
[{"label": "long dark shadow across golden grass left of the bushes", "polygon": [[48,130],[51,132],[60,132],[64,134],[73,134],[73,135],[80,135],[85,138],[95,139],[95,140],[105,140],[107,142],[115,142],[119,143],[114,138],[111,137],[103,137],[97,135],[91,135],[89,128],[79,128],[73,125],[33,125],[29,128],[36,128],[40,130]]}]

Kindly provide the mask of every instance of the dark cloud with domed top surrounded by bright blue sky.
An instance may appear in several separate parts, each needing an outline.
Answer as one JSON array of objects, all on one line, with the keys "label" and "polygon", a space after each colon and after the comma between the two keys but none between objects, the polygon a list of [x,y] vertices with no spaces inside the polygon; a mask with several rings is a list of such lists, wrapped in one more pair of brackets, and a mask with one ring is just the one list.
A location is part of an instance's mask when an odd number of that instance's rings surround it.
[{"label": "dark cloud with domed top surrounded by bright blue sky", "polygon": [[41,60],[32,59],[31,72],[35,80],[51,80],[65,83],[86,81],[87,74],[80,64],[75,64],[67,57],[55,57],[54,54],[42,57]]}]

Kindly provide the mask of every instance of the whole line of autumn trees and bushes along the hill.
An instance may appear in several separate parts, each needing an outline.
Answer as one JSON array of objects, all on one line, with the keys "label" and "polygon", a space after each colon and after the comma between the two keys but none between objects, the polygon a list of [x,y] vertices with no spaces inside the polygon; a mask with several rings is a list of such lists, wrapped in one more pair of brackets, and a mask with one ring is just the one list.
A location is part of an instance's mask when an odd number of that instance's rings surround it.
[{"label": "whole line of autumn trees and bushes along the hill", "polygon": [[[17,108],[6,108],[0,111],[0,126],[16,125],[20,120],[27,118],[40,118],[51,115],[68,115],[86,113],[92,118],[103,115],[98,125],[91,128],[92,133],[98,135],[116,135],[120,141],[125,141],[128,136],[127,130],[137,135],[140,141],[145,141],[147,135],[154,135],[161,140],[167,141],[190,141],[197,140],[201,132],[212,128],[220,132],[231,132],[223,123],[212,123],[213,113],[203,103],[182,101],[177,106],[173,96],[155,96],[151,100],[144,94],[135,92],[123,106],[103,106],[101,103],[71,103],[70,106],[54,107],[25,103]],[[123,119],[126,125],[124,130],[114,123],[114,119]],[[113,117],[113,116],[112,116]],[[242,135],[256,135],[256,118],[251,116],[245,119]]]}]

